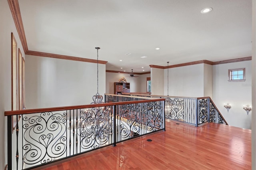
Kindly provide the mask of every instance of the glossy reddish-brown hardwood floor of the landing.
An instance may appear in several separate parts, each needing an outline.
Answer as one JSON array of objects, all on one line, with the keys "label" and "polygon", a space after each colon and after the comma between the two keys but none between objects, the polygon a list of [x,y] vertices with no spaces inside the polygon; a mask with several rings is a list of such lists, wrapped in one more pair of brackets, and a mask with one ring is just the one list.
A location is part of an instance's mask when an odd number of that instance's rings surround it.
[{"label": "glossy reddish-brown hardwood floor of the landing", "polygon": [[166,131],[95,150],[44,170],[251,169],[251,130],[215,123],[202,127],[176,123],[167,120]]}]

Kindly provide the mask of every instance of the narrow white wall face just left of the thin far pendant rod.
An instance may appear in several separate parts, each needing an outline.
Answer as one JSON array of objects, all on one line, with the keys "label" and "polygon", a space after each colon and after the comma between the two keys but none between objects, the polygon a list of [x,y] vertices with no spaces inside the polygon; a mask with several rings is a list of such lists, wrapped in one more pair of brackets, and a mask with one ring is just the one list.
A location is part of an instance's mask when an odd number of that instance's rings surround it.
[{"label": "narrow white wall face just left of the thin far pendant rod", "polygon": [[164,94],[164,69],[151,68],[151,94],[152,95],[167,95]]}]

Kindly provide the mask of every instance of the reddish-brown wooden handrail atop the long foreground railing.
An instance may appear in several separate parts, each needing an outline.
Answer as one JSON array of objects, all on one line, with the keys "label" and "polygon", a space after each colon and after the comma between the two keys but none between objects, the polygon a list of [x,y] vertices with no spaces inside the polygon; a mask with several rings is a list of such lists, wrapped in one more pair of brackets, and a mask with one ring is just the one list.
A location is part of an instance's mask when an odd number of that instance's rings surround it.
[{"label": "reddish-brown wooden handrail atop the long foreground railing", "polygon": [[51,111],[65,111],[65,110],[73,110],[73,109],[86,109],[86,108],[92,108],[92,107],[105,107],[105,106],[112,106],[112,105],[127,105],[127,104],[133,104],[133,103],[146,103],[146,102],[155,102],[155,101],[164,101],[164,100],[165,99],[152,98],[150,100],[140,100],[140,101],[123,101],[123,102],[101,103],[101,104],[93,104],[93,105],[77,105],[77,106],[64,106],[64,107],[50,107],[50,108],[42,108],[42,109],[27,109],[27,110],[19,110],[19,111],[5,111],[4,116],[43,113],[43,112],[51,112]]}]

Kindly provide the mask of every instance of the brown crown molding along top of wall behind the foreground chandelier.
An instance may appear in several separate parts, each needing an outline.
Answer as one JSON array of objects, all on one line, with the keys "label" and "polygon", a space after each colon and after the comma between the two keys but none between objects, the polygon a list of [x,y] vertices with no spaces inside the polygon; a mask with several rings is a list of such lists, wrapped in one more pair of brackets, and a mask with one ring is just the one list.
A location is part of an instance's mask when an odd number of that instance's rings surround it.
[{"label": "brown crown molding along top of wall behind the foreground chandelier", "polygon": [[[97,63],[96,59],[72,57],[72,56],[68,56],[68,55],[59,55],[59,54],[44,53],[44,52],[30,51],[30,50],[28,50],[26,52],[26,55],[35,55],[35,56],[40,56],[40,57],[50,57],[50,58],[68,59],[68,60],[74,60],[74,61],[83,61],[83,62],[88,62],[88,63]],[[106,64],[107,62],[108,61],[98,60],[99,64]]]}]

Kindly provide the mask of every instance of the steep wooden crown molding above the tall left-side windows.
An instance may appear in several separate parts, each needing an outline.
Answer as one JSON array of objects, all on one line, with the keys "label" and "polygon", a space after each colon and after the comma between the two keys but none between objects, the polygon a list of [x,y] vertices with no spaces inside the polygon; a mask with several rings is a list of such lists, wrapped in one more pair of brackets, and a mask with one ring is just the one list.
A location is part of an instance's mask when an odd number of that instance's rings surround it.
[{"label": "steep wooden crown molding above the tall left-side windows", "polygon": [[22,18],[21,18],[21,14],[20,14],[19,2],[18,2],[18,0],[7,0],[7,1],[9,4],[11,13],[12,13],[12,18],[14,20],[14,24],[16,26],[18,35],[20,37],[20,41],[21,41],[23,50],[26,54],[26,52],[28,51],[28,44],[26,41],[26,36],[25,36]]}]

